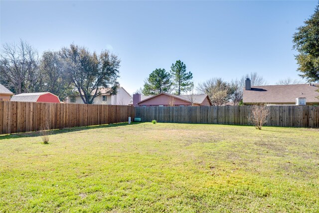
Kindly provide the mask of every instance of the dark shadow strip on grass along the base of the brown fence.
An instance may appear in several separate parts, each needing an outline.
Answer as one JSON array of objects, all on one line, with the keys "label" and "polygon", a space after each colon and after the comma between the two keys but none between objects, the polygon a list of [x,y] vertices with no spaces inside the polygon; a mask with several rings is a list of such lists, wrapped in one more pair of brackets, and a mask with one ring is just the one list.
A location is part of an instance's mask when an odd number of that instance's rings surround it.
[{"label": "dark shadow strip on grass along the base of the brown fence", "polygon": [[[116,124],[102,124],[96,126],[85,126],[85,127],[67,127],[63,129],[54,129],[52,131],[52,135],[68,133],[68,132],[76,132],[82,130],[91,130],[91,129],[101,129],[101,128],[110,128],[110,127],[122,127],[122,126],[131,126],[136,124],[141,124],[142,122],[131,122],[131,124],[125,123],[116,123]],[[7,135],[0,135],[0,140],[3,139],[14,139],[14,138],[26,138],[26,137],[38,137],[40,136],[39,131],[35,132],[23,132],[23,133],[12,133]]]}]

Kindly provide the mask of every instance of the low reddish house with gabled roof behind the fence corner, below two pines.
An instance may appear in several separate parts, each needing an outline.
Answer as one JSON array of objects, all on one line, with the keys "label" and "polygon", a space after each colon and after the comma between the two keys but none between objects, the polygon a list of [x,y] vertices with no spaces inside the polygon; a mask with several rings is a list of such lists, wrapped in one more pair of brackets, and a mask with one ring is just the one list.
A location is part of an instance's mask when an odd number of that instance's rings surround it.
[{"label": "low reddish house with gabled roof behind the fence corner, below two pines", "polygon": [[207,95],[172,95],[160,93],[154,96],[133,95],[134,106],[211,106]]}]

